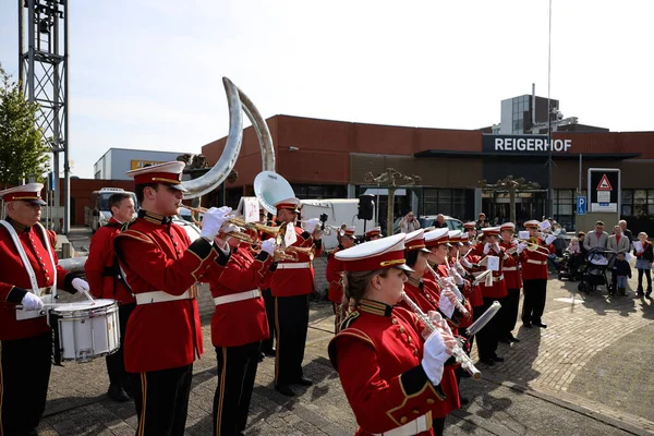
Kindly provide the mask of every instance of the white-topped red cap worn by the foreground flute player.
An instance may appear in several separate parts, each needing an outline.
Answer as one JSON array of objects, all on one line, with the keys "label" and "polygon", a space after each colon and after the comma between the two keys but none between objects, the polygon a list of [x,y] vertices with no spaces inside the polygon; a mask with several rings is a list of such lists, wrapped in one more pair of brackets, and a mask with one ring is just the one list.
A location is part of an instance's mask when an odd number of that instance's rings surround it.
[{"label": "white-topped red cap worn by the foreground flute player", "polygon": [[343,262],[346,271],[375,271],[398,268],[412,272],[405,265],[404,233],[364,242],[351,249],[339,251],[336,258]]}]

